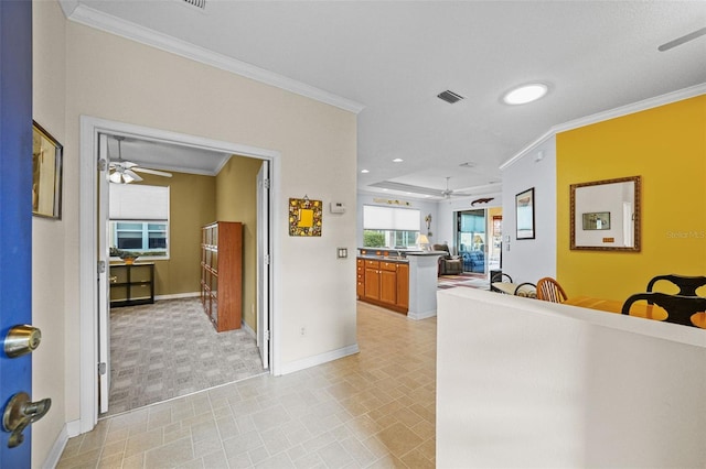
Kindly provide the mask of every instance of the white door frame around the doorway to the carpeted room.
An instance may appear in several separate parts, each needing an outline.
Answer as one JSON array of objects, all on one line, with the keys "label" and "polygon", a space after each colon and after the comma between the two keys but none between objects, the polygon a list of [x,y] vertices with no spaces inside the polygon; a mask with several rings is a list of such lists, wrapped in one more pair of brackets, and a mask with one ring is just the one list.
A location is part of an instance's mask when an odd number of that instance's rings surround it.
[{"label": "white door frame around the doorway to the carpeted room", "polygon": [[[266,262],[274,254],[274,242],[276,238],[271,232],[275,225],[271,218],[275,216],[270,208],[270,199],[278,186],[276,175],[279,170],[279,153],[275,151],[256,149],[229,142],[214,141],[194,135],[179,134],[160,131],[150,128],[142,128],[132,124],[107,121],[98,118],[82,117],[81,131],[81,233],[82,247],[79,272],[81,272],[81,419],[78,433],[90,430],[97,423],[99,411],[99,399],[108,395],[109,373],[109,345],[107,335],[109,321],[107,314],[109,310],[109,254],[107,249],[107,237],[105,230],[107,226],[107,203],[108,197],[108,171],[105,161],[106,148],[101,135],[121,135],[131,139],[143,139],[153,142],[168,143],[173,145],[188,146],[195,150],[226,152],[239,156],[261,161],[261,166],[267,167],[269,175],[265,184],[258,176],[257,210],[258,225],[261,220],[267,220],[265,229],[257,234],[257,269],[258,279],[265,280],[265,287],[258,288],[258,324],[253,328],[267,330],[263,334],[265,341],[258,340],[258,346],[266,350],[263,359],[277,357],[277,337],[272,334],[274,324],[274,282],[275,265]],[[101,162],[101,160],[104,160]],[[267,188],[264,189],[263,186]],[[98,196],[101,194],[103,197]],[[264,197],[266,200],[260,200]],[[101,209],[101,201],[103,209]],[[255,205],[255,196],[253,204]],[[96,229],[96,227],[98,229]],[[101,231],[97,234],[97,231]],[[96,254],[98,253],[98,254]],[[96,259],[97,258],[97,259]],[[98,264],[98,279],[96,282],[96,261]],[[98,287],[96,287],[98,285]],[[260,285],[261,286],[261,285]],[[199,286],[196,285],[196,288]],[[99,307],[96,308],[96,305]],[[263,309],[266,308],[266,309]],[[104,309],[103,317],[96,314],[96,309]],[[105,364],[104,364],[105,363]],[[265,363],[270,373],[276,373],[277,360]],[[207,386],[206,386],[207,388]]]}]

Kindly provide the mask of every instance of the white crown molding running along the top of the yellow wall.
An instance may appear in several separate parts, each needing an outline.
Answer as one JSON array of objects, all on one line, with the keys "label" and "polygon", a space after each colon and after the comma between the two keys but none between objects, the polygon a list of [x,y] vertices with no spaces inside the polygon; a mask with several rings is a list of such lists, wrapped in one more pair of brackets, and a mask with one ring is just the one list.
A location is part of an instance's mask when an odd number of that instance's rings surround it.
[{"label": "white crown molding running along the top of the yellow wall", "polygon": [[520,161],[527,153],[532,152],[534,149],[539,146],[546,140],[556,137],[557,133],[566,132],[574,129],[579,129],[581,127],[591,126],[598,122],[616,119],[616,118],[632,114],[635,112],[641,112],[648,109],[657,108],[660,106],[670,105],[672,102],[682,101],[684,99],[694,98],[700,95],[706,95],[706,83],[694,85],[688,88],[667,92],[665,95],[655,96],[654,98],[643,99],[642,101],[633,102],[631,105],[621,106],[619,108],[610,109],[608,111],[598,112],[580,119],[575,119],[565,123],[554,126],[547,132],[543,133],[542,137],[539,137],[532,143],[526,145],[524,149],[517,152],[514,156],[512,156],[511,159],[505,161],[503,164],[501,164],[500,170],[501,171],[506,170],[509,166]]}]

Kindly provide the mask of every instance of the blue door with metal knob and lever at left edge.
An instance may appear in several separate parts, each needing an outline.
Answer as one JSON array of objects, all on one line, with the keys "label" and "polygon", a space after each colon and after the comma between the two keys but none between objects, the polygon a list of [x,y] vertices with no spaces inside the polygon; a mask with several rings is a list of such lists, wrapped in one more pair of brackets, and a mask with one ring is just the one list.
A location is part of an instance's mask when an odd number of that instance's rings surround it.
[{"label": "blue door with metal knob and lever at left edge", "polygon": [[[14,325],[32,321],[32,3],[0,1],[0,343]],[[0,347],[2,410],[32,392],[32,356],[8,358]],[[0,468],[29,468],[31,432],[9,448],[0,432]]]}]

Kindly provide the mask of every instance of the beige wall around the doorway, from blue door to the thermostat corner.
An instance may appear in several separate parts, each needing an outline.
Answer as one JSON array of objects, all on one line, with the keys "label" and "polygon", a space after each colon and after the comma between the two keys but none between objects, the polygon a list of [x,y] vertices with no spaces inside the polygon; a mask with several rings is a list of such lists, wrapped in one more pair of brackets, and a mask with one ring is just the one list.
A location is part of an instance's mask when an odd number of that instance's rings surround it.
[{"label": "beige wall around the doorway, from blue door to the thermostat corner", "polygon": [[[35,357],[38,395],[55,396],[52,418],[81,417],[81,285],[78,201],[79,119],[90,116],[277,152],[272,209],[274,361],[280,370],[355,346],[353,259],[336,247],[355,248],[355,216],[324,214],[323,236],[290,238],[287,198],[355,206],[356,117],[279,88],[67,22],[55,2],[34,2],[35,118],[64,143],[64,216],[35,238],[35,291],[56,342]],[[90,288],[90,285],[85,285]],[[35,295],[39,296],[39,293]],[[83,312],[94,314],[94,312]],[[301,327],[308,334],[300,335]],[[61,337],[63,336],[63,337]],[[46,339],[51,343],[50,338]],[[41,357],[41,358],[40,358]],[[63,358],[63,363],[57,363]],[[46,374],[43,374],[46,373]],[[50,383],[51,380],[51,383]],[[56,417],[54,417],[56,416]],[[39,423],[34,454],[53,444],[54,424]]]}]

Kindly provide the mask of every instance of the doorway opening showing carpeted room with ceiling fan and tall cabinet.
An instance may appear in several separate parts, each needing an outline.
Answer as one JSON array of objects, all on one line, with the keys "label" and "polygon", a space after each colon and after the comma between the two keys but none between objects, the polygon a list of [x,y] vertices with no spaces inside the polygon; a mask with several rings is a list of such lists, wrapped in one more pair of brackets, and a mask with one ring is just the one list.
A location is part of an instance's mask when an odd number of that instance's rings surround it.
[{"label": "doorway opening showing carpeted room with ceiling fan and tall cabinet", "polygon": [[110,258],[108,310],[99,315],[107,323],[100,416],[263,374],[267,350],[256,331],[266,327],[255,314],[254,273],[263,231],[257,176],[268,162],[104,138],[109,190],[98,225],[108,229],[98,244],[107,243]]}]

